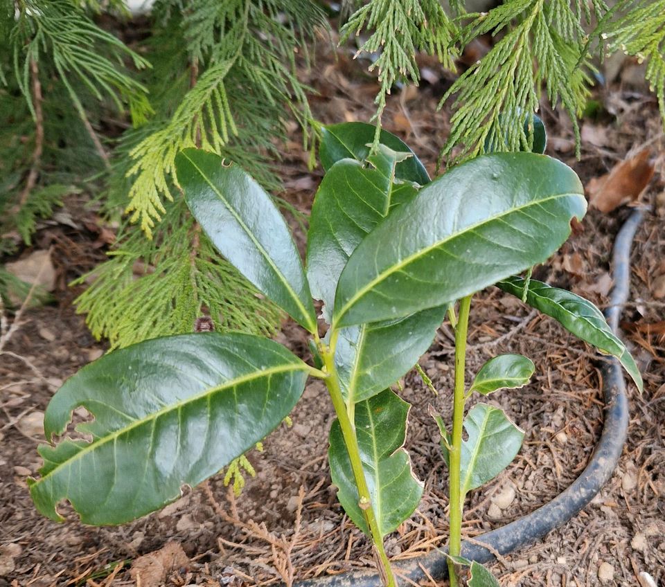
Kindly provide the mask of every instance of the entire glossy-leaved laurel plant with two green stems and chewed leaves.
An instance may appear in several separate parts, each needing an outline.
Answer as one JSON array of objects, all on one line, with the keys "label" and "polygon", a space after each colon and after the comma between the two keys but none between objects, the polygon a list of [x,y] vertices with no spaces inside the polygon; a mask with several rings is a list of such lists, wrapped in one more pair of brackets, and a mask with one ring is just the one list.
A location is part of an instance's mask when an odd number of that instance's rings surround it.
[{"label": "entire glossy-leaved laurel plant with two green stems and chewed leaves", "polygon": [[[48,405],[51,444],[39,446],[44,466],[30,493],[53,520],[62,520],[61,500],[87,524],[144,516],[263,440],[316,377],[337,415],[328,460],[339,502],[373,542],[393,586],[384,538],[414,512],[423,484],[402,446],[410,406],[391,386],[416,365],[448,314],[456,340],[451,431],[432,415],[450,469],[450,577],[456,585],[456,570],[466,565],[469,585],[495,585],[482,566],[460,557],[463,501],[513,460],[524,433],[488,404],[476,404],[464,419],[465,401],[524,386],[534,366],[518,354],[499,355],[465,387],[472,295],[493,285],[514,294],[617,356],[641,388],[635,362],[594,305],[515,276],[567,239],[571,219],[585,214],[582,185],[563,163],[532,152],[479,156],[430,181],[388,132],[372,154],[371,125],[331,125],[322,134],[326,174],[312,208],[306,269],[271,197],[237,164],[193,148],[176,159],[197,222],[312,335],[314,365],[238,332],[154,338],[107,354]],[[312,298],[323,302],[325,336]],[[76,427],[78,435],[65,435],[80,406],[93,419]]]}]

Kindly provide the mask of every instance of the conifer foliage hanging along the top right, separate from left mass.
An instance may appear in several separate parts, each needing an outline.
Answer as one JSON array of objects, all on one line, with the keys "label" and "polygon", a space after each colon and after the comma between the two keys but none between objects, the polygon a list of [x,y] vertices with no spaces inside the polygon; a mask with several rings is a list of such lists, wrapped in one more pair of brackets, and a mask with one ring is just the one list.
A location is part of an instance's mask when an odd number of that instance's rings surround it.
[{"label": "conifer foliage hanging along the top right, separate from left mass", "polygon": [[344,38],[370,35],[359,53],[380,52],[369,66],[378,69],[381,82],[379,121],[393,84],[420,80],[416,52],[409,49],[438,55],[449,66],[473,39],[494,37],[490,51],[441,100],[440,107],[450,101],[454,113],[441,159],[455,162],[486,150],[528,147],[529,129],[515,124],[515,116],[501,115],[534,113],[543,94],[553,107],[567,111],[579,146],[577,120],[595,83],[592,60],[606,52],[623,51],[648,62],[646,79],[665,119],[662,1],[619,0],[612,10],[604,0],[506,0],[488,12],[469,13],[463,2],[450,1],[449,8],[443,12],[438,2],[370,0],[342,28]]}]

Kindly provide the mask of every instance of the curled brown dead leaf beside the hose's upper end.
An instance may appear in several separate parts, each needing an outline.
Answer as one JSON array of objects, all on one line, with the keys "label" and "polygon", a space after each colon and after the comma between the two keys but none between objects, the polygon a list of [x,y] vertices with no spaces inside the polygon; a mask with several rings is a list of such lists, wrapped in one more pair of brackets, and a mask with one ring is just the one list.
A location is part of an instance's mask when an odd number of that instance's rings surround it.
[{"label": "curled brown dead leaf beside the hose's upper end", "polygon": [[655,170],[650,156],[650,150],[643,149],[630,159],[614,165],[609,173],[594,177],[587,185],[589,204],[608,213],[622,204],[637,202]]}]

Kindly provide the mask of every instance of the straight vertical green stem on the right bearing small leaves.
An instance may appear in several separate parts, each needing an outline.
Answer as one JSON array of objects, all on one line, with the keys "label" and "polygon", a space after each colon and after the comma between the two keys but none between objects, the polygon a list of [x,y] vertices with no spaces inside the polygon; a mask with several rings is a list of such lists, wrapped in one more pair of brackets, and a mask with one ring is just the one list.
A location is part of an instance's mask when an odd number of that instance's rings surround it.
[{"label": "straight vertical green stem on the right bearing small leaves", "polygon": [[[450,450],[450,542],[448,554],[459,557],[462,534],[462,507],[460,469],[462,449],[462,426],[464,422],[464,374],[466,359],[466,336],[469,327],[469,310],[471,297],[462,298],[459,302],[459,317],[455,328],[455,388],[452,406],[452,449]],[[455,564],[448,559],[448,575],[450,587],[457,586]]]}]

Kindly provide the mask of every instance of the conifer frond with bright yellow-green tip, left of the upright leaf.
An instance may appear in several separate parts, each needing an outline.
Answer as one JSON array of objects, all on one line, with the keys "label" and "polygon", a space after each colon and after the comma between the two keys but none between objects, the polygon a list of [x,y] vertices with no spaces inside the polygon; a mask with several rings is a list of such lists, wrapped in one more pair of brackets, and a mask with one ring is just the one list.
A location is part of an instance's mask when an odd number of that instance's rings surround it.
[{"label": "conifer frond with bright yellow-green tip, left of the upright leaf", "polygon": [[[199,144],[224,156],[229,145],[274,151],[270,138],[283,130],[285,106],[303,128],[305,141],[311,132],[312,114],[306,88],[294,73],[293,50],[303,46],[305,33],[323,24],[323,12],[308,0],[195,0],[188,8],[182,21],[188,51],[207,69],[170,120],[130,152],[134,165],[126,211],[149,238],[164,213],[164,199],[173,197],[170,178],[181,149]],[[269,134],[247,132],[265,123]]]}]

